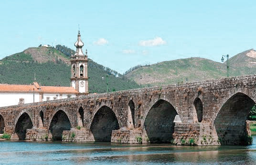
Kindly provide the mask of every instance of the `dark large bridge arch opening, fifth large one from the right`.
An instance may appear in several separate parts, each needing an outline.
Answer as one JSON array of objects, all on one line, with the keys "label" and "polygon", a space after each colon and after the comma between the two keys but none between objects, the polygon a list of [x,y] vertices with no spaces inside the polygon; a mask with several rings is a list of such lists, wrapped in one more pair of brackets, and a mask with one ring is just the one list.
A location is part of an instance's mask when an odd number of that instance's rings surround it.
[{"label": "dark large bridge arch opening, fifth large one from the right", "polygon": [[25,140],[27,129],[31,129],[33,123],[28,113],[24,112],[18,118],[15,125],[15,133],[18,135],[20,140]]}]

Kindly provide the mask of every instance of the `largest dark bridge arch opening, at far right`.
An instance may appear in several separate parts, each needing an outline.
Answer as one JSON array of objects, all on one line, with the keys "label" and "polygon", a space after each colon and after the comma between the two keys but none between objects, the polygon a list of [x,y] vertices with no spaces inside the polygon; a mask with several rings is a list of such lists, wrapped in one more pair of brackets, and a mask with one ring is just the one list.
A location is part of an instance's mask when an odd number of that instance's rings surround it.
[{"label": "largest dark bridge arch opening, at far right", "polygon": [[234,94],[223,104],[213,123],[213,133],[220,144],[248,144],[245,121],[254,104],[244,93]]}]

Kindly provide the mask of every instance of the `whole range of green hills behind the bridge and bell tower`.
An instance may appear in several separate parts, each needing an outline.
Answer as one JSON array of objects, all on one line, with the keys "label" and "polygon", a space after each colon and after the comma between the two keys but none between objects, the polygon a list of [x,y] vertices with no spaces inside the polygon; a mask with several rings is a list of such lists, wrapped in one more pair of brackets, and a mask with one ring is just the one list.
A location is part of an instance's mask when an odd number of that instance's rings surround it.
[{"label": "whole range of green hills behind the bridge and bell tower", "polygon": [[[32,47],[0,60],[0,83],[30,84],[34,72],[42,85],[70,86],[69,55],[72,50],[59,45],[54,47]],[[90,57],[90,56],[89,56]],[[238,53],[229,59],[230,76],[256,73],[256,51]],[[226,62],[192,57],[159,62],[147,66],[135,66],[121,75],[96,62],[88,62],[89,92],[106,92],[108,75],[109,91],[139,88],[143,86],[198,82],[226,76]],[[138,85],[139,84],[139,85]]]}]

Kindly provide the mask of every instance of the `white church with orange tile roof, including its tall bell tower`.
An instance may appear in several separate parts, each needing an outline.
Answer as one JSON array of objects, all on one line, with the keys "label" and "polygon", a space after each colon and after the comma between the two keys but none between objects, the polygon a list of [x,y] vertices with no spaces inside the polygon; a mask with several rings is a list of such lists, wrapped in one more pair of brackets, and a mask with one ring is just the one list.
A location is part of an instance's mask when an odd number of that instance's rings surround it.
[{"label": "white church with orange tile roof, including its tall bell tower", "polygon": [[84,55],[80,31],[75,42],[76,53],[71,56],[71,87],[41,86],[36,80],[30,85],[0,84],[0,107],[65,99],[88,94],[87,50]]}]

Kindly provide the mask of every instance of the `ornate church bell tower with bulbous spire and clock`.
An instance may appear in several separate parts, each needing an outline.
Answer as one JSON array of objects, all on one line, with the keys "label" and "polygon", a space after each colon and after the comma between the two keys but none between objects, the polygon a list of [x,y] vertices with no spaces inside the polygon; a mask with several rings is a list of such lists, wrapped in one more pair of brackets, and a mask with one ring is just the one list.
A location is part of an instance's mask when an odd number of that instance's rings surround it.
[{"label": "ornate church bell tower with bulbous spire and clock", "polygon": [[75,42],[76,52],[71,55],[71,86],[80,94],[89,94],[88,92],[88,59],[87,50],[83,53],[84,43],[81,40],[80,31],[78,31],[77,41]]}]

